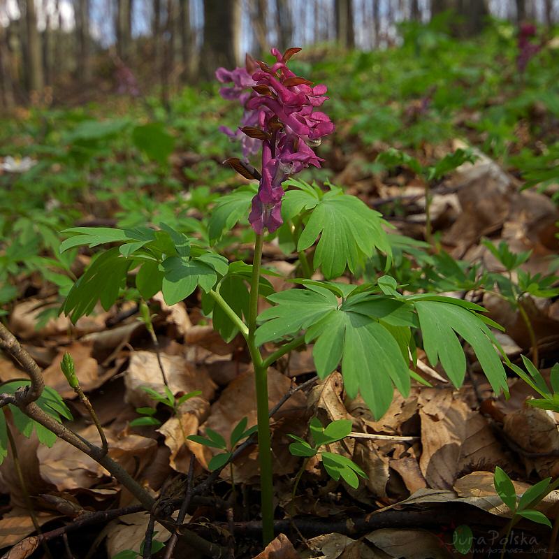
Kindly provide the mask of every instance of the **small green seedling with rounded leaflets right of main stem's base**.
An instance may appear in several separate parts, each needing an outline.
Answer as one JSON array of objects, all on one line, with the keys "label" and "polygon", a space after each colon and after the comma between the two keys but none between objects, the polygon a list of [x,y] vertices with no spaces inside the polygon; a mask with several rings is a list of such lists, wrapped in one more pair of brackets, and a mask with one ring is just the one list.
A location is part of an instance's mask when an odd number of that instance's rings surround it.
[{"label": "small green seedling with rounded leaflets right of main stem's base", "polygon": [[342,477],[349,486],[356,488],[359,485],[357,476],[367,479],[367,474],[365,474],[353,460],[333,452],[319,451],[320,447],[323,447],[325,444],[339,441],[351,433],[351,421],[349,419],[338,419],[328,424],[326,428],[323,428],[320,420],[314,417],[310,422],[310,433],[314,440],[314,447],[311,447],[307,441],[296,435],[289,435],[289,437],[297,441],[289,445],[291,454],[293,454],[293,456],[305,456],[307,458],[297,475],[296,483],[293,488],[293,495],[295,494],[298,481],[308,461],[313,456],[317,456],[317,454],[320,454],[322,458],[324,470],[326,470],[326,473],[335,479],[335,481],[338,481],[340,477]]}]

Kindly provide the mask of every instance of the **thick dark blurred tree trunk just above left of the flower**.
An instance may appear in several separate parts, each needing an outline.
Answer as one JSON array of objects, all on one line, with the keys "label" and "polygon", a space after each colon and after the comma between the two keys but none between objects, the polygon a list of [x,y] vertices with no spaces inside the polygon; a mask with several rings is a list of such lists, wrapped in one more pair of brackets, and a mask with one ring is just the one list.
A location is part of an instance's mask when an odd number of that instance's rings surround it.
[{"label": "thick dark blurred tree trunk just above left of the flower", "polygon": [[204,42],[201,52],[202,74],[215,79],[220,66],[228,70],[240,66],[240,2],[238,0],[204,0]]}]

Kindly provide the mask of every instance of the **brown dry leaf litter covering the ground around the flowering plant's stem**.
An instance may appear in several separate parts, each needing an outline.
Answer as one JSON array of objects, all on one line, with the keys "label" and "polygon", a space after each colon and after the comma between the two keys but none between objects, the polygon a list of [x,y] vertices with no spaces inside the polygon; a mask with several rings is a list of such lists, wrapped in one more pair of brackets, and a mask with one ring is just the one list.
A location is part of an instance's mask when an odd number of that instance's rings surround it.
[{"label": "brown dry leaf litter covering the ground around the flowering plant's stem", "polygon": [[[448,150],[457,147],[462,144],[456,142]],[[423,152],[419,150],[418,159],[428,159],[427,152],[428,147]],[[406,219],[389,221],[397,226],[398,234],[417,238],[425,220],[425,207],[421,204],[424,183],[405,168],[399,175],[384,175],[384,180],[373,180],[366,173],[360,175],[358,158],[367,161],[368,157],[358,153],[333,183],[348,184],[349,191],[360,198],[370,198],[372,203],[375,198],[401,198],[408,212]],[[442,232],[442,248],[453,258],[481,262],[487,270],[503,273],[482,240],[489,238],[493,245],[506,240],[512,252],[532,251],[521,269],[532,274],[546,273],[549,256],[558,252],[554,235],[559,213],[548,196],[519,191],[519,186],[514,177],[488,157],[463,164],[451,173],[439,191],[433,192],[432,219]],[[271,268],[293,269],[289,263],[274,260],[278,253],[273,246],[266,247],[264,254],[270,255]],[[270,281],[276,288],[280,282],[277,277],[270,277]],[[506,346],[509,357],[514,360],[520,351],[529,353],[532,340],[518,311],[487,294],[481,302],[491,319],[505,326],[510,339]],[[37,301],[25,300],[16,305],[9,324],[41,364],[47,384],[67,399],[75,417],[71,428],[95,441],[96,429],[89,424],[87,413],[59,370],[64,352],[72,354],[82,388],[106,431],[110,455],[157,493],[167,487],[169,480],[185,479],[193,456],[194,484],[203,479],[208,462],[219,451],[185,441],[184,437],[213,430],[228,441],[243,417],[247,417],[247,426],[256,424],[256,397],[254,374],[242,338],[226,343],[208,321],[201,324],[200,302],[194,296],[189,298],[188,306],[183,302],[166,305],[160,293],[152,303],[157,307],[154,327],[170,390],[177,397],[202,391],[180,405],[180,418],[144,390],[150,388],[165,395],[156,348],[137,321],[137,314],[122,321],[117,319],[115,326],[108,328],[107,319],[114,320],[118,310],[99,309],[98,314],[80,319],[68,336],[67,319],[49,321],[37,330]],[[558,346],[553,338],[559,333],[558,303],[532,296],[525,309],[535,326],[540,357],[546,362],[555,360]],[[313,377],[311,351],[312,347],[308,347],[282,358],[277,370],[270,369],[270,409],[296,384]],[[278,530],[292,533],[291,483],[300,467],[300,459],[288,451],[291,440],[287,435],[307,437],[313,416],[323,425],[338,419],[352,421],[351,435],[329,444],[328,451],[354,460],[368,479],[357,489],[344,481],[334,482],[327,479],[319,460],[313,458],[307,463],[293,502],[293,521],[304,537],[303,543],[293,547],[290,539],[280,534],[258,555],[250,544],[239,544],[238,556],[443,558],[453,556],[451,528],[457,523],[465,521],[478,528],[481,524],[486,531],[501,530],[510,511],[495,492],[493,471],[500,466],[509,472],[517,493],[523,493],[538,479],[558,475],[557,417],[526,405],[526,398],[535,393],[513,377],[509,379],[511,399],[507,402],[500,396],[493,402],[491,388],[479,375],[477,358],[467,346],[465,356],[469,376],[465,385],[456,390],[444,370],[430,367],[419,351],[416,372],[431,386],[412,382],[407,398],[394,391],[389,412],[381,419],[372,416],[360,396],[356,400],[347,398],[337,372],[291,395],[271,421]],[[3,382],[22,376],[14,363],[1,362]],[[159,426],[130,426],[138,418],[136,408],[142,407],[154,409]],[[35,435],[27,438],[14,430],[14,437],[39,525],[51,529],[81,514],[132,504],[131,496],[103,468],[65,442],[57,441],[48,449],[38,444]],[[233,507],[233,524],[217,504],[211,504],[212,498],[217,503],[231,495],[228,468],[222,470],[213,493],[193,507],[189,522],[194,525],[198,519],[198,525],[206,531],[214,530],[214,535],[233,526],[235,537],[241,540],[244,535],[258,532],[254,503],[259,465],[255,445],[247,447],[235,460],[232,476],[240,495]],[[38,544],[30,537],[34,525],[9,455],[0,465],[0,491],[6,495],[0,519],[0,547],[12,548],[6,557],[22,559]],[[553,492],[537,509],[553,519],[557,500],[558,492]],[[417,516],[418,512],[421,516]],[[110,556],[122,549],[139,549],[147,520],[146,514],[136,513],[108,523],[103,533]],[[212,525],[215,528],[210,528]],[[523,526],[542,539],[537,527]],[[157,537],[168,537],[163,527],[157,531]],[[532,547],[537,549],[536,545]]]}]

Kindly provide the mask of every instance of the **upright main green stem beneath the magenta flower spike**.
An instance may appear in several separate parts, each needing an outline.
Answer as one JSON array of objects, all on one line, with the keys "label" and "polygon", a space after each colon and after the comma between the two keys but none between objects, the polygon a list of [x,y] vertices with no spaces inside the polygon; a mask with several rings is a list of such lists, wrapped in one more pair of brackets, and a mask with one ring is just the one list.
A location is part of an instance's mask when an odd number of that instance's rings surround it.
[{"label": "upright main green stem beneath the magenta flower spike", "polygon": [[263,233],[256,235],[252,279],[250,282],[249,317],[247,346],[254,365],[256,384],[256,418],[258,421],[258,446],[260,458],[260,491],[262,508],[262,539],[266,546],[274,539],[274,504],[272,451],[270,444],[270,416],[268,408],[268,366],[262,361],[259,349],[254,343],[256,336],[256,317],[258,316],[258,292],[260,266],[262,262]]}]

